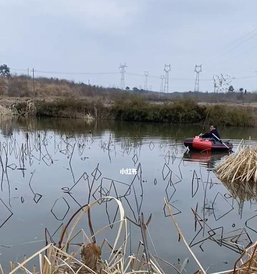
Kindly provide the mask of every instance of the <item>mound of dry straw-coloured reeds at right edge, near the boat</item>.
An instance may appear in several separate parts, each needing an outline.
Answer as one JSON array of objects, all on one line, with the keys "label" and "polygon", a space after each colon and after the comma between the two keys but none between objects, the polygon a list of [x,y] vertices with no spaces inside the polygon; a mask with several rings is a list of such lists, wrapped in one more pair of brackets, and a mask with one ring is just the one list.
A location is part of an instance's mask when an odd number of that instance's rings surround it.
[{"label": "mound of dry straw-coloured reeds at right edge, near the boat", "polygon": [[218,165],[219,180],[229,183],[257,183],[257,146],[245,144]]}]

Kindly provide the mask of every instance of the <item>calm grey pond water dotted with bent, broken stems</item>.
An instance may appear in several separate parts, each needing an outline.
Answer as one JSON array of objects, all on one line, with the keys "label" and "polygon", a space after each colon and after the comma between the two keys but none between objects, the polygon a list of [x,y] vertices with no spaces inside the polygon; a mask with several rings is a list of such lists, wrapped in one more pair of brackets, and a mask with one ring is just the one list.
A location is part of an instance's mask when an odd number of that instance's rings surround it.
[{"label": "calm grey pond water dotted with bent, broken stems", "polygon": [[[119,197],[126,215],[134,220],[137,199],[145,219],[152,213],[149,234],[158,256],[177,267],[189,258],[188,271],[198,268],[178,241],[164,197],[195,255],[205,268],[210,266],[209,272],[233,267],[241,246],[256,240],[254,189],[248,190],[244,201],[213,172],[226,153],[184,154],[183,139],[199,134],[201,126],[41,119],[2,121],[1,131],[0,262],[5,271],[10,260],[22,261],[24,255],[45,246],[45,228],[52,235],[88,199],[92,202],[101,195]],[[257,139],[256,129],[219,131],[235,147],[242,138]],[[135,168],[138,174],[121,174],[122,168]],[[118,220],[116,210],[113,202],[95,207],[94,230]],[[129,228],[129,249],[136,252],[141,232],[134,224]],[[116,232],[116,227],[109,228],[97,242],[104,238],[112,242]],[[57,231],[54,241],[59,236]],[[104,258],[108,254],[103,250]],[[163,269],[174,271],[167,265]]]}]

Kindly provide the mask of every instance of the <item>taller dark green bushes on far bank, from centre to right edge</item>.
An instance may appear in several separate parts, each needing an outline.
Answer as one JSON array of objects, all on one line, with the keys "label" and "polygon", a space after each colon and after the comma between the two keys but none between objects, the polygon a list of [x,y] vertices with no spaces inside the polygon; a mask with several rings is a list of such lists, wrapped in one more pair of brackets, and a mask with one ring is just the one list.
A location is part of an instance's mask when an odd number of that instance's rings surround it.
[{"label": "taller dark green bushes on far bank, from centre to right edge", "polygon": [[[193,100],[151,104],[137,96],[122,96],[112,107],[114,119],[160,123],[207,123],[223,126],[253,127],[257,124],[257,108],[203,105]],[[207,119],[206,119],[207,118]]]}]

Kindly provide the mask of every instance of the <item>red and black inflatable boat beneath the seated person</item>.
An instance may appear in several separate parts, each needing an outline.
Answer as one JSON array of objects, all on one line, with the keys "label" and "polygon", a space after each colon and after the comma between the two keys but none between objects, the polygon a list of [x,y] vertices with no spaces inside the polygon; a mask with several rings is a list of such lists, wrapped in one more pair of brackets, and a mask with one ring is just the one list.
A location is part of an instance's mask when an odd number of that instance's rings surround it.
[{"label": "red and black inflatable boat beneath the seated person", "polygon": [[[225,144],[225,145],[224,145]],[[184,141],[184,145],[189,149],[194,150],[228,150],[233,148],[230,142],[221,142],[211,139],[202,139],[196,136],[195,138],[187,138]]]}]

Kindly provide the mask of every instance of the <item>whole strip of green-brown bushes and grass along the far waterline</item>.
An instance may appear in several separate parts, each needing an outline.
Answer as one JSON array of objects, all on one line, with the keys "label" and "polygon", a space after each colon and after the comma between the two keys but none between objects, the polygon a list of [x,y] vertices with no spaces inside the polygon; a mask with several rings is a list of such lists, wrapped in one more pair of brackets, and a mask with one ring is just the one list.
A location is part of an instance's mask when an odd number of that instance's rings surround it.
[{"label": "whole strip of green-brown bushes and grass along the far waterline", "polygon": [[[30,105],[28,107],[28,105]],[[223,126],[257,126],[257,107],[228,104],[198,104],[192,100],[150,103],[140,96],[123,95],[113,103],[101,100],[55,99],[16,102],[18,115],[92,118],[156,123],[214,123]]]}]

